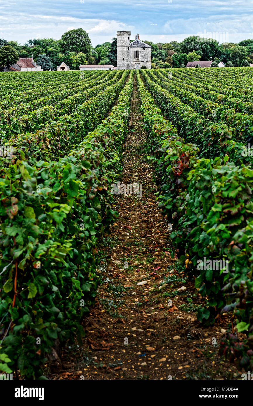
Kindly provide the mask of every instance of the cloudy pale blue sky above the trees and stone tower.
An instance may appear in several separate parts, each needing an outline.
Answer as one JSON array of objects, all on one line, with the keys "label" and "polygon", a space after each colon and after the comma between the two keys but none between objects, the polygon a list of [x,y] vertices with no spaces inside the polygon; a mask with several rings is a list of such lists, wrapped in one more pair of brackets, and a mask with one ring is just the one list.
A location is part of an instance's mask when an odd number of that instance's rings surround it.
[{"label": "cloudy pale blue sky above the trees and stone tower", "polygon": [[253,38],[253,0],[0,0],[0,37],[7,41],[60,39],[80,27],[93,46],[110,41],[117,30],[154,42],[201,33],[238,42]]}]

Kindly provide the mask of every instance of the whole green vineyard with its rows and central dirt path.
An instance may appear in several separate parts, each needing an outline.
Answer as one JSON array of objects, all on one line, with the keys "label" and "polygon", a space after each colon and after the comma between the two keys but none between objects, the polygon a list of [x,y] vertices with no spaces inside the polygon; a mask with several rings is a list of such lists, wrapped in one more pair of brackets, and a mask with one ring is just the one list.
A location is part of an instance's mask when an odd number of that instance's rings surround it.
[{"label": "whole green vineyard with its rows and central dirt path", "polygon": [[[252,371],[252,81],[247,67],[0,73],[0,372],[55,379],[62,353],[76,379],[153,363],[151,379],[195,379],[208,345],[206,370],[225,363],[212,379]],[[141,194],[113,193],[122,181]]]}]

